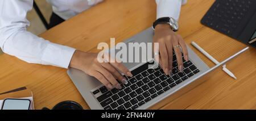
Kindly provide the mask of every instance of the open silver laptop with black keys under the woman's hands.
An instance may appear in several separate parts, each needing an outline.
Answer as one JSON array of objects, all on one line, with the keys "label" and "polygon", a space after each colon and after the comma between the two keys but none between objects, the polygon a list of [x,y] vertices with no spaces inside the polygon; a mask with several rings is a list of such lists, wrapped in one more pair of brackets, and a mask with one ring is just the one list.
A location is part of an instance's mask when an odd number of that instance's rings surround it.
[{"label": "open silver laptop with black keys under the woman's hands", "polygon": [[[124,42],[126,44],[152,43],[153,36],[154,31],[152,28],[148,28]],[[115,51],[118,52],[118,50]],[[112,89],[109,91],[96,78],[90,77],[77,69],[70,68],[67,73],[90,109],[141,110],[148,109],[167,97],[168,101],[176,99],[195,86],[207,81],[207,77],[212,76],[210,73],[214,73],[213,70],[218,68],[220,68],[218,70],[221,70],[221,65],[224,65],[243,51],[245,49],[220,62],[213,68],[209,68],[188,47],[189,61],[183,60],[184,72],[181,73],[177,69],[177,60],[174,55],[173,74],[171,77],[166,76],[156,62],[153,63],[150,60],[148,62],[124,62],[123,64],[131,70],[133,77],[126,77],[129,83],[127,85],[123,84],[121,90]],[[145,51],[141,50],[141,52],[150,56]]]}]

